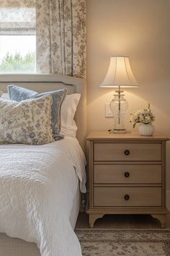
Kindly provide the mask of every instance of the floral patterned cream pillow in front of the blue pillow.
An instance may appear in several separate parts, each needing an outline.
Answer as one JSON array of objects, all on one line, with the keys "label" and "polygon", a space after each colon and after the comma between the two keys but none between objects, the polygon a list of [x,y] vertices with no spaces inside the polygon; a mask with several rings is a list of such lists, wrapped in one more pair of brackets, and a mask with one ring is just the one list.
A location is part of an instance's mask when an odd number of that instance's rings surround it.
[{"label": "floral patterned cream pillow in front of the blue pillow", "polygon": [[41,145],[54,142],[50,95],[24,101],[0,98],[0,144]]}]

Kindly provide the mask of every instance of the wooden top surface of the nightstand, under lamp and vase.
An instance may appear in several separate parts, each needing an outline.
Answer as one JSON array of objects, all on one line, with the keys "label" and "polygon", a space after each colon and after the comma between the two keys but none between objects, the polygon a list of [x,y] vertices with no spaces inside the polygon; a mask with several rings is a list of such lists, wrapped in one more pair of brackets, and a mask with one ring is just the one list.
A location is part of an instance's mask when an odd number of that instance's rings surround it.
[{"label": "wooden top surface of the nightstand, under lamp and vase", "polygon": [[169,140],[168,137],[161,135],[160,132],[154,132],[153,136],[141,136],[138,132],[127,133],[109,133],[105,131],[92,131],[87,136],[87,140]]}]

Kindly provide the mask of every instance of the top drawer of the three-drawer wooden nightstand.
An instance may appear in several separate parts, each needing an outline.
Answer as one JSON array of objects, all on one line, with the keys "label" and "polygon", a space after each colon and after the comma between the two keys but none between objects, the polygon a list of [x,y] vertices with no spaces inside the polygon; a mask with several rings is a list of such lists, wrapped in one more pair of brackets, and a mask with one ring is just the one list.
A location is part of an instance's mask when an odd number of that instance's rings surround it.
[{"label": "top drawer of the three-drawer wooden nightstand", "polygon": [[94,143],[94,161],[161,161],[161,143]]}]

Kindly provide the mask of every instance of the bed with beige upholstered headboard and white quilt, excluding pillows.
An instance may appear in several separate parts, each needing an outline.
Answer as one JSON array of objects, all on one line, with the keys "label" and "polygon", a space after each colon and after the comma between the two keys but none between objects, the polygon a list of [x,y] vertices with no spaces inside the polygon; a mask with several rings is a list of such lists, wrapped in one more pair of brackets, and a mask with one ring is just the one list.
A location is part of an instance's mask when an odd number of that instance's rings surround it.
[{"label": "bed with beige upholstered headboard and white quilt, excluding pillows", "polygon": [[0,255],[79,256],[81,248],[73,229],[80,208],[79,187],[86,179],[85,81],[56,74],[37,74],[31,79],[29,75],[1,75],[0,90],[6,92],[6,85],[12,83],[37,92],[67,88],[68,94],[81,93],[81,99],[76,111],[77,139],[65,137],[36,146],[0,145],[1,176],[5,177],[0,187],[4,208],[0,210]]}]

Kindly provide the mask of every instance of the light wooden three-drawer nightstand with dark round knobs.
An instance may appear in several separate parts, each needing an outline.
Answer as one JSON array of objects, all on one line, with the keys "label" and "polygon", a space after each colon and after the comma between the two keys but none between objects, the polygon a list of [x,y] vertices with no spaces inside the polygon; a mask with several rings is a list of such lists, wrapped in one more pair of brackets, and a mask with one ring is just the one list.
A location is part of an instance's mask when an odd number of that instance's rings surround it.
[{"label": "light wooden three-drawer nightstand with dark round knobs", "polygon": [[91,132],[89,226],[104,214],[151,214],[166,224],[166,140],[137,133]]}]

